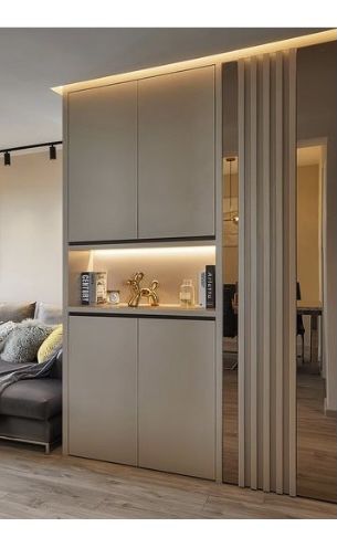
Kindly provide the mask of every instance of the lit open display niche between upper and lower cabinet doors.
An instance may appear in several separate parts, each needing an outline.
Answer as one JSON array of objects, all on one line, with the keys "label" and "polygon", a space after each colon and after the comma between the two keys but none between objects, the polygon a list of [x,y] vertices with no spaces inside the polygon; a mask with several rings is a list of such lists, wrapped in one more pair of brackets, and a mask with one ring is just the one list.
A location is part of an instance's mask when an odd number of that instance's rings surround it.
[{"label": "lit open display niche between upper and lower cabinet doors", "polygon": [[[199,306],[198,275],[206,265],[215,264],[214,242],[112,244],[97,246],[70,246],[69,249],[69,312],[127,312],[137,314],[198,314],[211,316],[214,309]],[[81,305],[81,272],[106,272],[107,289],[120,292],[119,305]],[[127,281],[136,272],[145,274],[141,286],[159,282],[159,306],[150,306],[143,298],[137,308],[127,306],[130,287]],[[179,302],[179,288],[185,278],[192,280],[196,305],[183,308]]]}]

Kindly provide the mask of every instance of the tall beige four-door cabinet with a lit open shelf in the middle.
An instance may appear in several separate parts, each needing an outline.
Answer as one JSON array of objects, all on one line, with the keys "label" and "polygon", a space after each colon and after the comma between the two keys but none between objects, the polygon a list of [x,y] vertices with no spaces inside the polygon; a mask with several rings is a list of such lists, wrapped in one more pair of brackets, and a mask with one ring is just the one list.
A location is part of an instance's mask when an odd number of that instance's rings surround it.
[{"label": "tall beige four-door cabinet with a lit open shelf in the middle", "polygon": [[194,284],[215,264],[215,97],[213,65],[64,95],[66,453],[220,478],[217,308],[181,307],[178,280],[165,305],[85,306],[78,283],[104,257],[123,295],[130,257]]}]

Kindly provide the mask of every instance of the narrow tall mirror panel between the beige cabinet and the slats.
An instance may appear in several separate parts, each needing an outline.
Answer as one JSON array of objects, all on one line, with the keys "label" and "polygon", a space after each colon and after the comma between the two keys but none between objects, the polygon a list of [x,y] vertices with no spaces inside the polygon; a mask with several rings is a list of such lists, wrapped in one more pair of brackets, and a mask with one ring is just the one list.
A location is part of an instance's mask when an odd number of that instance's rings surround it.
[{"label": "narrow tall mirror panel between the beige cabinet and the slats", "polygon": [[223,65],[223,482],[238,485],[238,64]]}]

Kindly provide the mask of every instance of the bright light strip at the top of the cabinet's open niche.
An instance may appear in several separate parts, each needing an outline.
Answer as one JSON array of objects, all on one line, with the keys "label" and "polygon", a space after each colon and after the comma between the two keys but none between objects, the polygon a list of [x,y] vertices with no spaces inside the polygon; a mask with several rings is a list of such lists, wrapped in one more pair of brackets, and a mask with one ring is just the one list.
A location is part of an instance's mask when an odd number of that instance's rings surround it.
[{"label": "bright light strip at the top of the cabinet's open niche", "polygon": [[215,245],[194,245],[180,247],[124,247],[113,250],[93,250],[95,256],[198,256],[215,254]]}]

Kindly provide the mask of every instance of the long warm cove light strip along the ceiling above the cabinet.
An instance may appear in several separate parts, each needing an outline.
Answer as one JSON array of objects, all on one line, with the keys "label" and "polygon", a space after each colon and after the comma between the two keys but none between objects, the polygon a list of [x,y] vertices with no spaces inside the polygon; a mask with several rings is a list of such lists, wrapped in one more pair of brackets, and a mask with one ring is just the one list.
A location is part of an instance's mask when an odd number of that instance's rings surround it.
[{"label": "long warm cove light strip along the ceiling above the cabinet", "polygon": [[214,55],[208,55],[204,57],[193,59],[189,61],[181,61],[178,63],[170,63],[167,65],[160,65],[150,68],[141,68],[138,71],[114,74],[110,76],[104,76],[95,80],[87,80],[84,82],[76,82],[73,84],[65,84],[65,85],[52,87],[52,91],[59,93],[60,95],[63,95],[63,93],[74,92],[77,89],[87,89],[91,87],[99,87],[104,85],[116,84],[118,82],[139,80],[149,76],[165,74],[168,72],[193,68],[194,66],[202,66],[202,65],[215,64],[215,63],[228,63],[230,61],[236,61],[239,59],[251,55],[274,53],[276,51],[288,50],[291,48],[305,48],[308,45],[320,44],[324,42],[333,42],[335,40],[337,40],[337,30],[333,29],[328,31],[316,32],[314,34],[306,34],[304,36],[295,36],[287,40],[280,40],[277,42],[270,42],[266,44],[244,48],[242,50],[234,50],[225,53],[217,53]]}]

